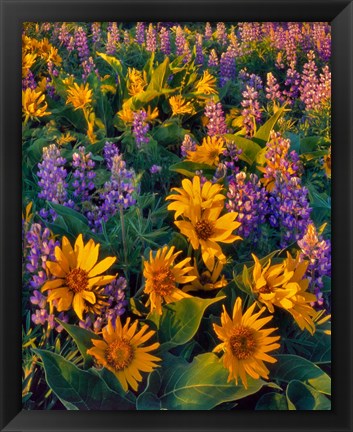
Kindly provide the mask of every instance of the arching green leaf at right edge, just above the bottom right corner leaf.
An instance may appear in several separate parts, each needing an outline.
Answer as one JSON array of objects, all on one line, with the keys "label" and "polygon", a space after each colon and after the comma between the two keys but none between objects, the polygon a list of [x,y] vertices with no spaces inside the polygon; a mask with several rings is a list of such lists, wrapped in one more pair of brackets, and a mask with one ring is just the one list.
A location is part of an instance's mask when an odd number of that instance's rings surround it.
[{"label": "arching green leaf at right edge, just above the bottom right corner leaf", "polygon": [[270,366],[273,380],[289,383],[292,380],[311,385],[320,393],[331,395],[331,378],[309,360],[291,354],[274,355],[278,361]]}]

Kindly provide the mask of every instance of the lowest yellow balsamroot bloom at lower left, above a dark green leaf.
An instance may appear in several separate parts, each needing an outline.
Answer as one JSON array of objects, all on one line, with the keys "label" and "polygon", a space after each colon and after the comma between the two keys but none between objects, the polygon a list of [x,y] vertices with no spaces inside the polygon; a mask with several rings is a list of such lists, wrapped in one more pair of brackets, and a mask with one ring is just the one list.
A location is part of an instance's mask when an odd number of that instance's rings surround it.
[{"label": "lowest yellow balsamroot bloom at lower left, above a dark green leaf", "polygon": [[103,340],[92,339],[94,346],[87,350],[87,354],[95,357],[100,365],[113,372],[125,391],[129,387],[137,391],[138,383],[142,381],[140,372],[152,372],[158,366],[156,362],[161,361],[150,354],[150,351],[159,347],[158,342],[143,346],[155,331],[147,331],[148,326],[144,324],[136,332],[137,327],[138,320],[130,326],[128,318],[124,327],[121,325],[120,317],[117,317],[114,326],[109,320],[102,331]]}]

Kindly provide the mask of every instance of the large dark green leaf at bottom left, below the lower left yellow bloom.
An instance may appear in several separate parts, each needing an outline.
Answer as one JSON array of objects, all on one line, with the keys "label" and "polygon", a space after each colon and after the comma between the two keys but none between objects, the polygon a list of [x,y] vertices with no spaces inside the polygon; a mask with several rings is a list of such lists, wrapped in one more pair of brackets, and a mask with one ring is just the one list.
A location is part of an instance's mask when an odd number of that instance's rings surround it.
[{"label": "large dark green leaf at bottom left, below the lower left yellow bloom", "polygon": [[124,394],[112,391],[97,374],[83,371],[58,354],[34,350],[44,364],[49,387],[67,408],[79,410],[131,410]]}]

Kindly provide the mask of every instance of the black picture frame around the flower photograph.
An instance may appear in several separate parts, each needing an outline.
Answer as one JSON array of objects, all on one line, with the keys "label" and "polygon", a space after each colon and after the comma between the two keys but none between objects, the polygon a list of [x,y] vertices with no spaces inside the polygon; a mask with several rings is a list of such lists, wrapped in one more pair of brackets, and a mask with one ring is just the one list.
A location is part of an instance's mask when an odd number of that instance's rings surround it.
[{"label": "black picture frame around the flower photograph", "polygon": [[[0,0],[0,429],[352,431],[353,3],[341,0]],[[329,21],[333,88],[331,411],[21,411],[21,27],[25,21]]]}]

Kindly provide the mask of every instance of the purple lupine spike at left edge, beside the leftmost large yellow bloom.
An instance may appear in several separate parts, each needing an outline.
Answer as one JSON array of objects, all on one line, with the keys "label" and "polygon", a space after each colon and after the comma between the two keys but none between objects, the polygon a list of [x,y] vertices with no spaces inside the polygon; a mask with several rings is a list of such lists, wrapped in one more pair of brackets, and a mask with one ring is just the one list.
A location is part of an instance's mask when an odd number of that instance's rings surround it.
[{"label": "purple lupine spike at left edge, beside the leftmost large yellow bloom", "polygon": [[55,260],[54,250],[59,242],[52,238],[49,228],[34,223],[26,233],[26,245],[26,270],[31,276],[29,284],[33,289],[38,289],[47,280],[46,262]]}]

